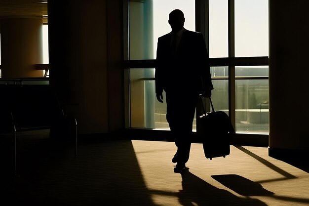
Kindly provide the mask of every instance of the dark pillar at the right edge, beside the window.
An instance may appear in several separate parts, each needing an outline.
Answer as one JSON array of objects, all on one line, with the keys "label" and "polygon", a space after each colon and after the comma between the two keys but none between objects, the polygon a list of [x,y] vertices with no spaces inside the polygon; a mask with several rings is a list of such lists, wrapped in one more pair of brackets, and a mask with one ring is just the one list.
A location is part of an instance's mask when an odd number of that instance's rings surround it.
[{"label": "dark pillar at the right edge, beside the window", "polygon": [[270,156],[309,151],[308,0],[269,0]]}]

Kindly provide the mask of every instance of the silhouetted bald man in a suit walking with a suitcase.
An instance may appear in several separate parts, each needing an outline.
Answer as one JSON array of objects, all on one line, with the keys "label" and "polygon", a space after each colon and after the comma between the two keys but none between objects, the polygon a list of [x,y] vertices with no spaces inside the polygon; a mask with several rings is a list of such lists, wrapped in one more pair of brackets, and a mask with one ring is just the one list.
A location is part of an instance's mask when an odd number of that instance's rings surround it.
[{"label": "silhouetted bald man in a suit walking with a suitcase", "polygon": [[172,31],[157,43],[155,93],[163,102],[166,94],[166,120],[175,137],[177,163],[174,172],[186,169],[189,160],[193,118],[199,94],[211,96],[213,89],[208,52],[201,33],[184,28],[184,13],[175,9],[169,14]]}]

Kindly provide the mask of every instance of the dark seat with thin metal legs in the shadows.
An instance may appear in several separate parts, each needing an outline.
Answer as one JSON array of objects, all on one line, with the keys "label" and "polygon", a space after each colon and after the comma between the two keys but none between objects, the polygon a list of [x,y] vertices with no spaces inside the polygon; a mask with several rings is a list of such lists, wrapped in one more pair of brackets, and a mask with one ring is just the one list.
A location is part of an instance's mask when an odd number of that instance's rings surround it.
[{"label": "dark seat with thin metal legs in the shadows", "polygon": [[[50,138],[75,143],[77,158],[77,120],[66,116],[50,85],[6,85],[11,127],[14,128],[14,164],[16,164],[16,131],[50,129]],[[7,116],[8,114],[5,114]],[[3,116],[4,117],[4,116]]]}]

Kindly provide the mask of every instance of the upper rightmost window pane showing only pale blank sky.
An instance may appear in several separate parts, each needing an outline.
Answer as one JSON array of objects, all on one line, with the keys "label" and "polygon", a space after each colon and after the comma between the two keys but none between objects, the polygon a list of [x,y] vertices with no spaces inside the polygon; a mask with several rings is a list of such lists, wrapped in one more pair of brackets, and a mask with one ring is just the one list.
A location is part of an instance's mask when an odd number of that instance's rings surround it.
[{"label": "upper rightmost window pane showing only pale blank sky", "polygon": [[268,0],[235,0],[235,57],[268,56]]}]

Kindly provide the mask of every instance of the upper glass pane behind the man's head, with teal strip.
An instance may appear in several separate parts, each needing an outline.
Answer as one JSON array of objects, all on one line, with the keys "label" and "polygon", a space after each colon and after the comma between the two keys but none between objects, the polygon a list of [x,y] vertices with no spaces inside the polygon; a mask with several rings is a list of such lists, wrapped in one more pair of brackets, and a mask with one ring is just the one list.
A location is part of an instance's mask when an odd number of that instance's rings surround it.
[{"label": "upper glass pane behind the man's head, with teal strip", "polygon": [[155,59],[157,38],[171,31],[168,14],[176,8],[195,31],[195,0],[129,0],[129,59]]}]

